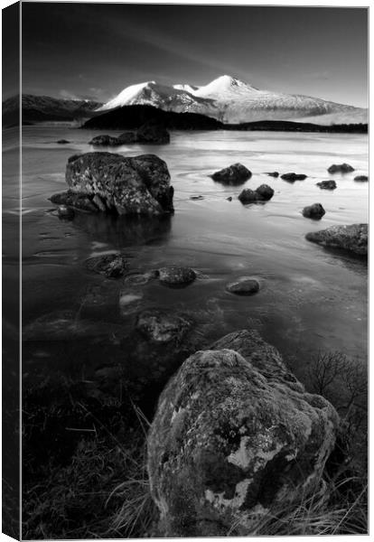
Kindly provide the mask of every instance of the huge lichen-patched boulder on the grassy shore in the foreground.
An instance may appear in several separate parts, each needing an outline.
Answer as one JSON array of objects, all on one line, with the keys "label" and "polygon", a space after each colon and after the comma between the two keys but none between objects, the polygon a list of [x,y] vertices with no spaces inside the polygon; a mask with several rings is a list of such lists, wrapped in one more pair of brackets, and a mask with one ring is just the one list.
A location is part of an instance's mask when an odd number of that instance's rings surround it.
[{"label": "huge lichen-patched boulder on the grassy shore in the foreground", "polygon": [[315,491],[338,425],[257,332],[196,352],[164,389],[148,436],[157,536],[250,534],[272,507]]}]

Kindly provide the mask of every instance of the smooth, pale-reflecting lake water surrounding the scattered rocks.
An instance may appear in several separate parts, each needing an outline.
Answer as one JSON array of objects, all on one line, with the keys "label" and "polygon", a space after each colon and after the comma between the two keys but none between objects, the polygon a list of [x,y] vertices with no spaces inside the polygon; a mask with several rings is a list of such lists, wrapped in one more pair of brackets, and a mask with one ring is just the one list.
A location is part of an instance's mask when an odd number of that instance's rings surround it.
[{"label": "smooth, pale-reflecting lake water surrounding the scattered rocks", "polygon": [[[366,362],[367,266],[359,258],[329,252],[304,238],[308,231],[368,221],[368,183],[353,181],[355,175],[368,173],[366,135],[175,132],[171,145],[102,149],[163,158],[175,190],[174,216],[134,222],[82,214],[74,221],[61,221],[48,198],[66,189],[68,157],[94,150],[87,142],[98,133],[23,128],[23,326],[53,313],[53,318],[57,314],[82,322],[83,328],[77,346],[43,323],[36,326],[35,341],[24,347],[24,373],[36,375],[42,367],[69,373],[98,366],[110,355],[96,344],[98,336],[107,333],[116,338],[131,331],[136,313],[151,307],[189,314],[208,342],[227,332],[256,328],[300,378],[315,350],[341,350]],[[61,138],[72,143],[57,145]],[[16,151],[10,133],[6,141],[11,163]],[[222,186],[210,179],[210,173],[235,162],[253,173],[244,187],[255,189],[266,182],[274,188],[271,201],[243,206],[237,200],[243,186]],[[341,162],[356,171],[327,173],[332,163]],[[289,183],[266,175],[273,171],[308,177]],[[338,185],[333,192],[315,185],[331,178]],[[14,176],[5,175],[5,234],[9,236],[17,208],[7,190],[12,182]],[[202,198],[192,200],[192,196]],[[302,216],[304,206],[314,202],[323,204],[323,220]],[[111,281],[85,270],[87,257],[113,250],[128,255],[134,274],[182,265],[192,266],[199,277],[192,285],[174,290],[157,280]],[[5,263],[10,269],[15,256],[13,244],[8,243]],[[229,294],[225,285],[238,276],[257,276],[261,291],[250,297]],[[11,294],[5,293],[5,298]],[[56,341],[60,341],[58,350]]]}]

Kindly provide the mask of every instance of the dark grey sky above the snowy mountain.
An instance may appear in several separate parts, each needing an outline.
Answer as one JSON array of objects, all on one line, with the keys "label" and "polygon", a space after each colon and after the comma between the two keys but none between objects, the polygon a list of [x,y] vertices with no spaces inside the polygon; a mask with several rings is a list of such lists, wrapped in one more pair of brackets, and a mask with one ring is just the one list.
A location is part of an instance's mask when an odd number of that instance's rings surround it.
[{"label": "dark grey sky above the snowy mountain", "polygon": [[229,74],[367,107],[367,49],[363,8],[23,3],[23,93],[60,98]]}]

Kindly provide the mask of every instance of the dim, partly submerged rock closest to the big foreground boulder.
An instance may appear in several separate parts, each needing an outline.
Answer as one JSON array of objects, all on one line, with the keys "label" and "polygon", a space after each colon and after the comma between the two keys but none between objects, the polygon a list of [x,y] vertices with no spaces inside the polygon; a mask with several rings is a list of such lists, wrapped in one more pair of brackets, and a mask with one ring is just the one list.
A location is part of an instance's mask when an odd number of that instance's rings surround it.
[{"label": "dim, partly submerged rock closest to the big foreground boulder", "polygon": [[141,313],[136,321],[136,329],[149,341],[180,341],[191,323],[174,314],[158,310]]}]

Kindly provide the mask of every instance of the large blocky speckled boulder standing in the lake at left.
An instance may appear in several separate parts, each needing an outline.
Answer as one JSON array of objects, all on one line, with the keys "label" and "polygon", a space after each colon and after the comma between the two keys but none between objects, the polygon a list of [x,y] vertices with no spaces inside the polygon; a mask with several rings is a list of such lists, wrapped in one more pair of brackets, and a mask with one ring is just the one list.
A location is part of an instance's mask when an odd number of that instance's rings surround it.
[{"label": "large blocky speckled boulder standing in the lake at left", "polygon": [[164,160],[154,154],[135,158],[112,153],[75,155],[66,166],[66,182],[70,193],[98,195],[108,210],[121,215],[173,211],[170,173]]}]

